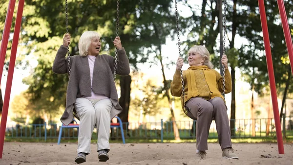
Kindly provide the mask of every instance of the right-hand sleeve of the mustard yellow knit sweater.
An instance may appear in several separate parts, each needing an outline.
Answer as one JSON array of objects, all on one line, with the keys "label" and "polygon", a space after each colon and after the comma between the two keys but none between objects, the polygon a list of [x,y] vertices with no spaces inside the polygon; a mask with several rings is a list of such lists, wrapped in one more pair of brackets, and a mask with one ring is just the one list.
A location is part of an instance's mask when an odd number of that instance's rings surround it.
[{"label": "right-hand sleeve of the mustard yellow knit sweater", "polygon": [[[223,76],[215,71],[217,74],[217,83],[219,87],[219,91],[223,92]],[[229,69],[225,70],[225,94],[229,94],[232,91],[232,78]]]}]

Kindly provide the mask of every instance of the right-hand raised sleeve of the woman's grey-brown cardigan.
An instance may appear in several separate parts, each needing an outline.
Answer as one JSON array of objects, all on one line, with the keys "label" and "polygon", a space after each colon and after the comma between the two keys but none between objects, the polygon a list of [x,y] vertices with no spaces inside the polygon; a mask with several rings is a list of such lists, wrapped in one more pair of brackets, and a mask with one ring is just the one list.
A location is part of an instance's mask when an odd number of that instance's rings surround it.
[{"label": "right-hand raised sleeve of the woman's grey-brown cardigan", "polygon": [[[114,63],[115,63],[115,58],[114,58]],[[126,76],[130,73],[129,59],[126,55],[126,51],[125,51],[124,47],[122,47],[122,49],[118,50],[118,60],[117,60],[116,73],[121,76]]]}]

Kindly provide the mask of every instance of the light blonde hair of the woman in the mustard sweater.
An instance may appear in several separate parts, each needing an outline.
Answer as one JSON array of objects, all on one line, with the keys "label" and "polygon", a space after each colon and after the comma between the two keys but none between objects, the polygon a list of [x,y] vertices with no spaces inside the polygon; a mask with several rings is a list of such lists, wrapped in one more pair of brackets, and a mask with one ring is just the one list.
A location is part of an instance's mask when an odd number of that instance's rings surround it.
[{"label": "light blonde hair of the woman in the mustard sweater", "polygon": [[209,61],[209,50],[206,47],[201,46],[201,45],[193,46],[188,50],[188,54],[189,53],[198,53],[199,55],[201,55],[205,59],[204,65],[208,66],[209,69],[213,68],[213,65]]}]

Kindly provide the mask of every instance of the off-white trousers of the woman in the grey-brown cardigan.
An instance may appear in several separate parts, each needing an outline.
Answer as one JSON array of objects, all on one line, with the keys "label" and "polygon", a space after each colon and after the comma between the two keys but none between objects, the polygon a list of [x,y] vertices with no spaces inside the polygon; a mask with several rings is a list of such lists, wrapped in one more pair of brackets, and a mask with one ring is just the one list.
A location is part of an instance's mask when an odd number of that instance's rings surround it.
[{"label": "off-white trousers of the woman in the grey-brown cardigan", "polygon": [[110,99],[77,98],[75,110],[80,118],[77,153],[90,154],[90,141],[94,130],[97,128],[97,151],[110,150],[110,111],[112,102]]}]

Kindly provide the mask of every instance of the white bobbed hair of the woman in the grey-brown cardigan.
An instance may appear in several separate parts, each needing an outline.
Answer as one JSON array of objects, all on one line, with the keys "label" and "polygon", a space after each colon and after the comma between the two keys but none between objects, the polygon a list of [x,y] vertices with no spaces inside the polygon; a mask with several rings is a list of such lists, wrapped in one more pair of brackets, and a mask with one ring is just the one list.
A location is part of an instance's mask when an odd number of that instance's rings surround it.
[{"label": "white bobbed hair of the woman in the grey-brown cardigan", "polygon": [[101,38],[101,35],[98,32],[95,31],[85,31],[79,42],[78,42],[78,48],[79,48],[79,53],[81,56],[87,56],[87,51],[88,51],[88,47],[91,44],[91,39],[93,38]]}]

